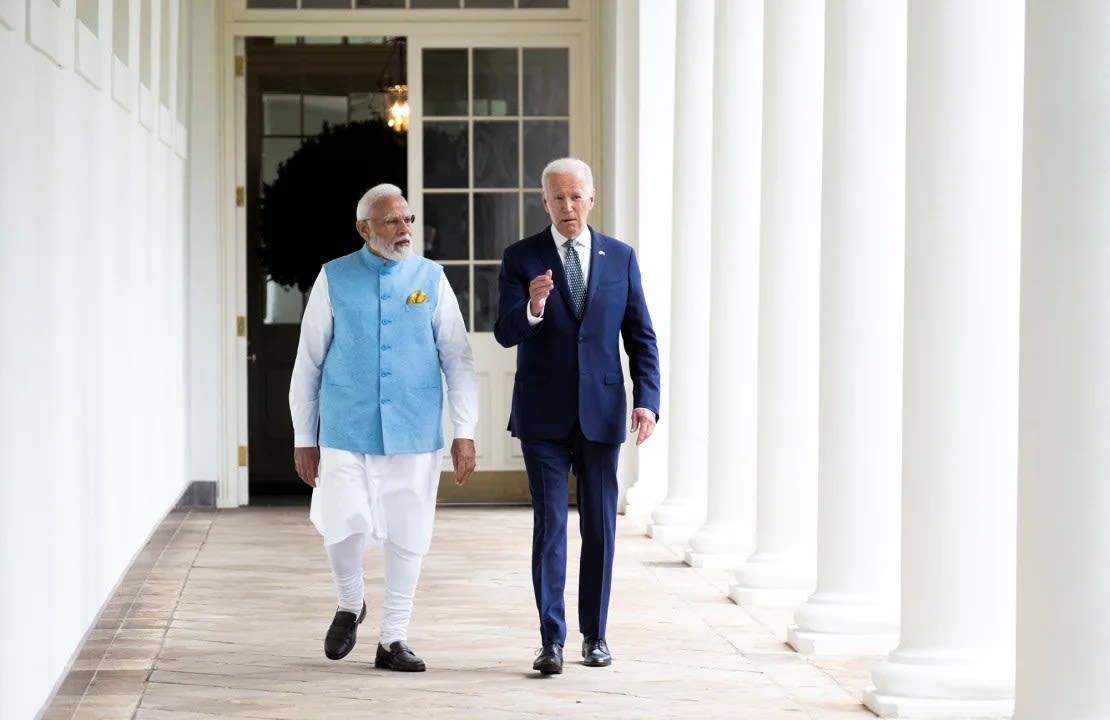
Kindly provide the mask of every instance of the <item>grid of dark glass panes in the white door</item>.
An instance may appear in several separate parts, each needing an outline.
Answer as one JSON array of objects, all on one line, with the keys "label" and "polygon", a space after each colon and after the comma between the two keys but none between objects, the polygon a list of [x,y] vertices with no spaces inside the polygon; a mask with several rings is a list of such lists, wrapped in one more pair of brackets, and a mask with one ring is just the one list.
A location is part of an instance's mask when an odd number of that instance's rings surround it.
[{"label": "grid of dark glass panes in the white door", "polygon": [[547,224],[545,164],[569,152],[567,48],[422,51],[424,256],[467,328],[493,331],[505,247]]}]

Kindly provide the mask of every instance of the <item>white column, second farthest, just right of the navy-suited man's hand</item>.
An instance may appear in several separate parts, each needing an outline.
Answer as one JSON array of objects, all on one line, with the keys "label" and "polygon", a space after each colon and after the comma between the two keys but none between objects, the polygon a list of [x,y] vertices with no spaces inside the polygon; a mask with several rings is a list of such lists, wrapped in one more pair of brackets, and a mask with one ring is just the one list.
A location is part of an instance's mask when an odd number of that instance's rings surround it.
[{"label": "white column, second farthest, just right of the navy-suited man's hand", "polygon": [[705,516],[709,399],[709,183],[713,159],[713,0],[678,3],[675,205],[670,255],[670,428],[667,497],[647,533],[686,541]]}]

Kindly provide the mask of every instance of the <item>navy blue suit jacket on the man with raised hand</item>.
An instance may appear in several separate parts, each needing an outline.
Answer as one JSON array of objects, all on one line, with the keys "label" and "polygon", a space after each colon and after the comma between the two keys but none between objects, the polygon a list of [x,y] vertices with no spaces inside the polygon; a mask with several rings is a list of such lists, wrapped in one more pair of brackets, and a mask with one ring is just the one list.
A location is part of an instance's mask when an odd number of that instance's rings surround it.
[{"label": "navy blue suit jacket on the man with raised hand", "polygon": [[[579,322],[551,227],[505,249],[494,336],[516,347],[508,429],[523,440],[568,437],[575,423],[596,443],[623,443],[628,426],[620,339],[633,407],[659,414],[659,352],[633,249],[589,229],[589,277]],[[543,322],[531,326],[528,283],[552,271]]]}]

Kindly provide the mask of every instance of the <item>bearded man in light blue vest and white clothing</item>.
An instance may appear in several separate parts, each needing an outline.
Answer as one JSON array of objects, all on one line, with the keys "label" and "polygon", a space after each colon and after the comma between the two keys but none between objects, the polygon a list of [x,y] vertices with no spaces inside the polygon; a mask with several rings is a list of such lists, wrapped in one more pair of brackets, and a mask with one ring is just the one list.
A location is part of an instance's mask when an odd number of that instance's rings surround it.
[{"label": "bearded man in light blue vest and white clothing", "polygon": [[339,608],[324,638],[332,660],[354,648],[366,617],[362,555],[384,545],[385,592],[374,666],[422,671],[407,629],[432,541],[444,446],[443,381],[455,483],[474,471],[478,382],[466,327],[436,263],[412,256],[415,217],[396,185],[355,210],[366,244],[325,263],[301,321],[290,384],[293,462],[313,487]]}]

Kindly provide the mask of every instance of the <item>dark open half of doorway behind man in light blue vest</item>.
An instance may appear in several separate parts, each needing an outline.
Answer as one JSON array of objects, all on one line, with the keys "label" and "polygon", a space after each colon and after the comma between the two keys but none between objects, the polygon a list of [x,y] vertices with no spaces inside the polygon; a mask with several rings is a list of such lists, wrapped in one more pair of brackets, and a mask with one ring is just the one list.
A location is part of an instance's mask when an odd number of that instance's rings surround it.
[{"label": "dark open half of doorway behind man in light blue vest", "polygon": [[404,38],[249,38],[246,325],[252,504],[303,501],[289,385],[320,265],[357,250],[367,187],[407,193],[404,129],[389,124]]}]

